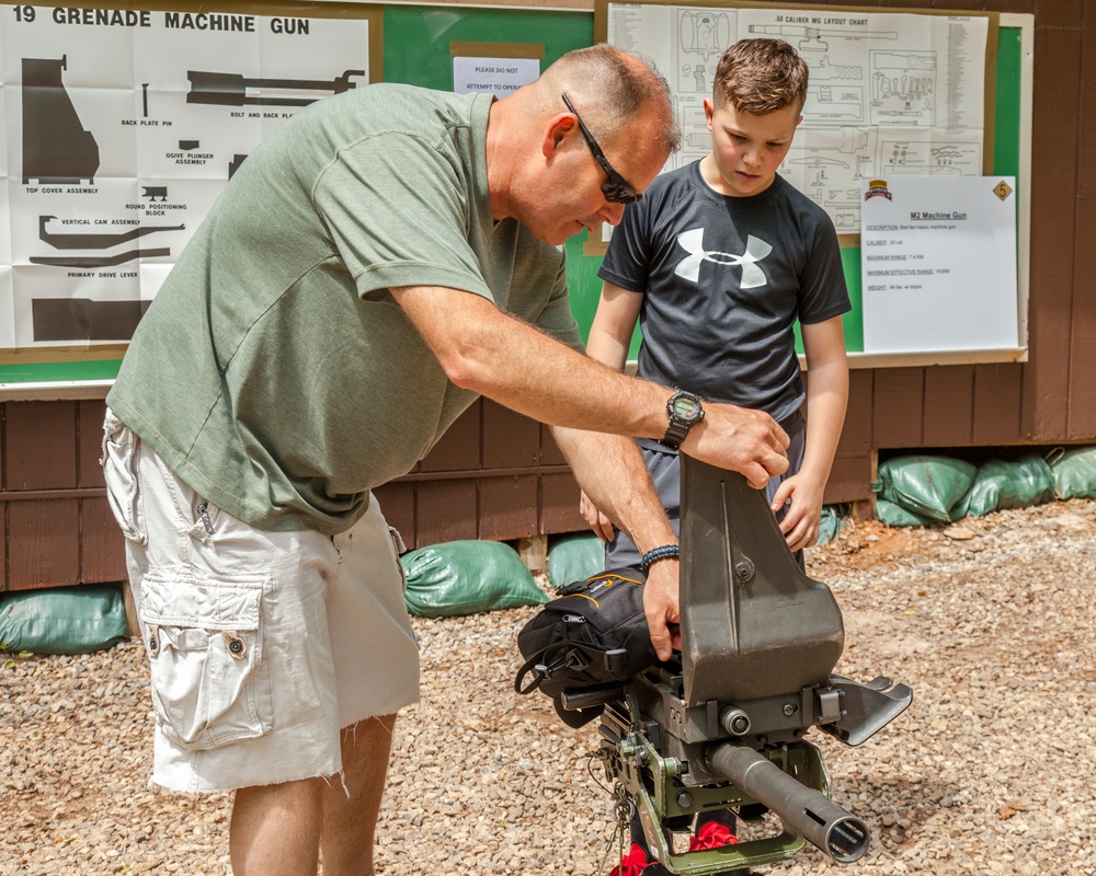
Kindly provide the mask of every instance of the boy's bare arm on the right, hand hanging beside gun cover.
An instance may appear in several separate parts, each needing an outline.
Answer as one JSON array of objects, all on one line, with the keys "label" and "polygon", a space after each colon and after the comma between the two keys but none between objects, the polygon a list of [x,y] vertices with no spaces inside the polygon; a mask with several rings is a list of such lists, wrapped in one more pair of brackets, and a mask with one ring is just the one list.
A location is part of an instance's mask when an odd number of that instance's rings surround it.
[{"label": "boy's bare arm on the right, hand hanging beside gun cover", "polygon": [[807,446],[799,473],[780,484],[773,499],[778,511],[790,498],[780,530],[792,551],[818,541],[822,494],[830,477],[848,403],[848,357],[842,318],[802,326],[807,354]]}]

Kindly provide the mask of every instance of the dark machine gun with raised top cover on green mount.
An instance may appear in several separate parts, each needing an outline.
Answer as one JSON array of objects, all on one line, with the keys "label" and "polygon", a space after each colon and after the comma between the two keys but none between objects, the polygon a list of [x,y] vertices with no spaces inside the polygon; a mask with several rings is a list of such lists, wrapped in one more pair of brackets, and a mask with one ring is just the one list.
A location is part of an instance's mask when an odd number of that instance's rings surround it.
[{"label": "dark machine gun with raised top cover on green mount", "polygon": [[[741,475],[682,456],[681,542],[680,655],[627,683],[566,691],[563,708],[604,705],[598,754],[671,873],[745,876],[804,840],[836,862],[856,861],[868,827],[831,800],[821,753],[804,736],[818,727],[857,746],[913,691],[833,675],[841,610]],[[750,835],[675,852],[675,828],[719,809],[733,810]]]}]

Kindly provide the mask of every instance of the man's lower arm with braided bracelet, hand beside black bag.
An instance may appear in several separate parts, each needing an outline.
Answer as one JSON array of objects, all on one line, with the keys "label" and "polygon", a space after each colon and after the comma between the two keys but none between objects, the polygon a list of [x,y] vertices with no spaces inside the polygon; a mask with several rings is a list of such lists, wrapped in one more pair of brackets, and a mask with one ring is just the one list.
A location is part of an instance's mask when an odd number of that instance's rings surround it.
[{"label": "man's lower arm with braided bracelet, hand beside black bag", "polygon": [[[552,436],[579,485],[598,508],[604,508],[619,522],[640,553],[677,543],[635,441],[618,435],[558,426],[552,427]],[[681,646],[681,633],[676,629],[680,623],[677,573],[676,560],[655,563],[648,573],[643,590],[651,643],[661,660],[669,659],[672,648]]]}]

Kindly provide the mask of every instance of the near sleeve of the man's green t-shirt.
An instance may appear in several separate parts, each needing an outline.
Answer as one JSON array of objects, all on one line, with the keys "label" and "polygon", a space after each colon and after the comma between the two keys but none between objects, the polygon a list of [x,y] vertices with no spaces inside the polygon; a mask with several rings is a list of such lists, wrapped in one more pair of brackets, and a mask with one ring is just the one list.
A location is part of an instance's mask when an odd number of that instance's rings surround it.
[{"label": "near sleeve of the man's green t-shirt", "polygon": [[386,132],[340,150],[312,203],[358,293],[393,286],[491,291],[468,243],[469,193],[421,137]]}]

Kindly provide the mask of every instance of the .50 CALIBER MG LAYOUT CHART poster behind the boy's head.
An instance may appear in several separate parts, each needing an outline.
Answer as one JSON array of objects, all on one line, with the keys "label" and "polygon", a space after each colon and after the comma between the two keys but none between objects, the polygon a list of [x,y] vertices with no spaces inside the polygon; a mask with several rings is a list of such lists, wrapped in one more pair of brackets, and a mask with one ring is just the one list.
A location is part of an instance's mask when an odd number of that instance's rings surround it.
[{"label": ".50 CALIBER MG LAYOUT CHART poster behind the boy's head", "polygon": [[704,99],[739,39],[790,43],[810,68],[803,120],[779,173],[838,234],[860,230],[863,180],[983,172],[989,18],[609,3],[608,42],[670,82],[683,145],[665,170],[704,158]]}]

